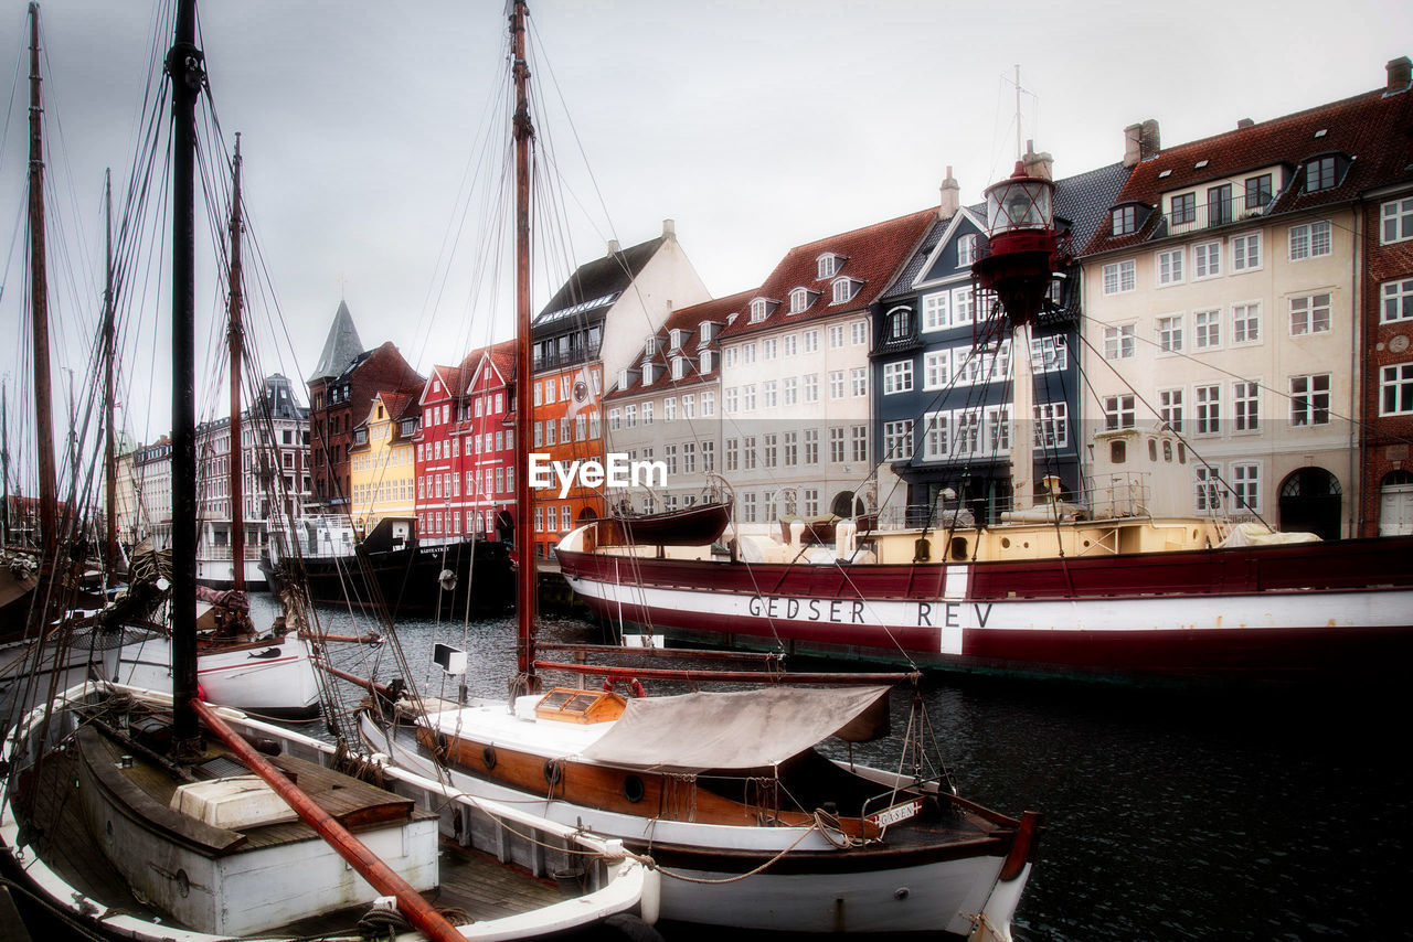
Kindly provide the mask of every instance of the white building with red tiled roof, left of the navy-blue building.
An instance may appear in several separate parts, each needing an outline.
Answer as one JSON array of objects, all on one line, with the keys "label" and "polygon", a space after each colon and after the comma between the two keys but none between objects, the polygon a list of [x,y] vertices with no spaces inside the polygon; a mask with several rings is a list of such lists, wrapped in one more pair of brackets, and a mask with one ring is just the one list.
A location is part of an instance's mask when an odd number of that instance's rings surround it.
[{"label": "white building with red tiled roof, left of the navy-blue building", "polygon": [[870,305],[934,219],[930,208],[791,249],[728,315],[721,466],[742,531],[870,511],[893,487],[870,448]]}]

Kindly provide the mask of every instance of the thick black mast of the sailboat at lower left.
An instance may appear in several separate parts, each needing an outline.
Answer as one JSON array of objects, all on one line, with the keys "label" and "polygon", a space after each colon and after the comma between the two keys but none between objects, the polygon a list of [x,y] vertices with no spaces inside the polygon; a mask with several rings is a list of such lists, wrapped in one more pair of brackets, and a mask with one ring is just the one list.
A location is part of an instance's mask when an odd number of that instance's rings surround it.
[{"label": "thick black mast of the sailboat at lower left", "polygon": [[181,0],[167,54],[172,83],[172,750],[192,751],[196,713],[195,150],[196,0]]}]

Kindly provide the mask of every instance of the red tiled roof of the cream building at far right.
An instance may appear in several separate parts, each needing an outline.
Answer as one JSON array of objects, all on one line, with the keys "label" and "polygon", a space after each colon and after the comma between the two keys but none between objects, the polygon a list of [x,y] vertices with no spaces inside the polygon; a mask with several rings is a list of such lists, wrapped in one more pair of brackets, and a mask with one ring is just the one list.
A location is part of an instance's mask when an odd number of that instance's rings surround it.
[{"label": "red tiled roof of the cream building at far right", "polygon": [[[1099,226],[1082,254],[1113,251],[1166,234],[1160,227],[1161,193],[1228,179],[1248,171],[1286,164],[1293,175],[1263,213],[1301,212],[1355,199],[1361,192],[1413,179],[1413,92],[1385,89],[1272,119],[1234,131],[1170,147],[1140,161],[1113,203],[1154,208],[1136,233],[1113,236]],[[1352,161],[1335,186],[1306,192],[1300,167],[1321,154]],[[1164,175],[1166,174],[1166,175]]]}]

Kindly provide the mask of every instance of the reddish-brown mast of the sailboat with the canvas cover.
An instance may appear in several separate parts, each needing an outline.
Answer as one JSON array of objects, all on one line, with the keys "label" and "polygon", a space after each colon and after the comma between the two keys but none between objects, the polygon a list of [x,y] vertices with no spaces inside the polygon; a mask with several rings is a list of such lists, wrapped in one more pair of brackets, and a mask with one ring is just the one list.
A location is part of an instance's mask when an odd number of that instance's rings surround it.
[{"label": "reddish-brown mast of the sailboat with the canvas cover", "polygon": [[526,4],[514,0],[510,14],[510,40],[514,47],[516,81],[516,555],[520,562],[516,585],[517,664],[524,691],[534,693],[540,681],[534,672],[534,590],[538,571],[534,558],[534,527],[530,521],[530,386],[534,364],[530,357],[530,141],[534,124],[530,121],[527,85],[530,66],[526,64]]}]

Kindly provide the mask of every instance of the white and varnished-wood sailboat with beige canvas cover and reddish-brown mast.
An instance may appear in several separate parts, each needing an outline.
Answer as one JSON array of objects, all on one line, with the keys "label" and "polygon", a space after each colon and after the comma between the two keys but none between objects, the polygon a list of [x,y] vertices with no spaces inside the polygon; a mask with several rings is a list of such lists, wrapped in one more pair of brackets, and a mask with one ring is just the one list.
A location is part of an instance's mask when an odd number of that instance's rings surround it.
[{"label": "white and varnished-wood sailboat with beige canvas cover and reddish-brown mast", "polygon": [[[519,366],[517,438],[530,441],[530,179],[534,136],[526,90],[526,4],[513,4],[516,85]],[[516,455],[527,520],[527,453]],[[698,521],[699,523],[699,521]],[[617,530],[633,524],[612,521]],[[719,528],[708,521],[705,531]],[[704,532],[705,532],[704,531]],[[955,794],[918,749],[899,771],[829,758],[820,746],[870,739],[900,675],[791,679],[755,689],[625,699],[612,689],[540,691],[530,527],[516,528],[519,674],[512,699],[373,705],[365,741],[400,767],[449,775],[463,792],[514,802],[651,854],[663,871],[661,917],[723,929],[948,932],[1009,939],[1036,859],[1040,816],[996,813]],[[592,668],[609,676],[654,676]],[[747,679],[745,674],[668,672]],[[639,688],[630,681],[630,686]],[[921,723],[921,717],[914,717]],[[920,733],[921,726],[914,732]],[[918,744],[916,740],[910,740]]]}]

